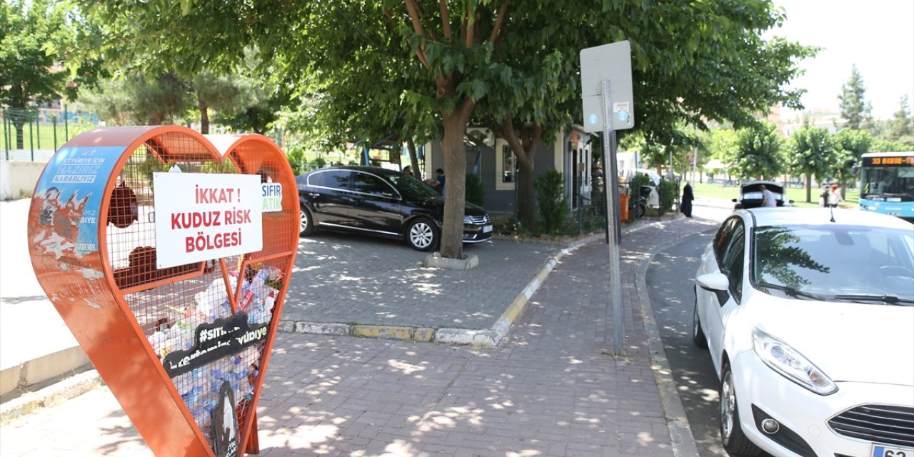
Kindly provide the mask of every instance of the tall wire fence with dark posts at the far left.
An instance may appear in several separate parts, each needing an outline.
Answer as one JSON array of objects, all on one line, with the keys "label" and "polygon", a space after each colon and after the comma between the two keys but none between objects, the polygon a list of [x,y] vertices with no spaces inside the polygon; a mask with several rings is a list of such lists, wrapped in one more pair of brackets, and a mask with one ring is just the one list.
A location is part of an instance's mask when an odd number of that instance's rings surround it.
[{"label": "tall wire fence with dark posts at the far left", "polygon": [[7,161],[46,162],[79,133],[95,128],[98,116],[56,108],[4,108],[2,156]]}]

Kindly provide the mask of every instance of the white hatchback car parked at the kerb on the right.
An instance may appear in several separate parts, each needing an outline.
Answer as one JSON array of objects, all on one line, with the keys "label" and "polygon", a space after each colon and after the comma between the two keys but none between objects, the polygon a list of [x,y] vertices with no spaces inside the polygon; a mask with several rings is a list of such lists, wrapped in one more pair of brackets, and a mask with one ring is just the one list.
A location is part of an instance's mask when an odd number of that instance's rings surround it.
[{"label": "white hatchback car parked at the kerb on the right", "polygon": [[692,336],[720,379],[728,452],[914,456],[914,226],[754,208],[696,272]]}]

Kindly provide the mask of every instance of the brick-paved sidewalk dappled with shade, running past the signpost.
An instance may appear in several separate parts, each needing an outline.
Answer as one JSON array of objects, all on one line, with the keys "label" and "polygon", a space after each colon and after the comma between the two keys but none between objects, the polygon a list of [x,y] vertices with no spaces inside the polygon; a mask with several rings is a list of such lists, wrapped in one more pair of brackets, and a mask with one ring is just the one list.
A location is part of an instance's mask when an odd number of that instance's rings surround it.
[{"label": "brick-paved sidewalk dappled with shade, running past the signpost", "polygon": [[[641,267],[714,225],[678,219],[624,235],[623,356],[611,356],[602,244],[562,257],[495,348],[278,335],[258,410],[261,455],[688,455],[674,451],[691,436],[671,432],[655,377]],[[150,454],[106,388],[0,435],[4,456]]]}]

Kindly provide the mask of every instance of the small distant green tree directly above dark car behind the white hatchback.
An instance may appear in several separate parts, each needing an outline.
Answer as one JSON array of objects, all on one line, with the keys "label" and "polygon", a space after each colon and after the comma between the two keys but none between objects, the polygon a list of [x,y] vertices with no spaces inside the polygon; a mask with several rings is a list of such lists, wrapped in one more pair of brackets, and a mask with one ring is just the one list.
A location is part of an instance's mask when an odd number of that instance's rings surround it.
[{"label": "small distant green tree directly above dark car behind the white hatchback", "polygon": [[773,178],[784,170],[781,138],[771,122],[757,122],[737,132],[731,175],[740,179]]}]

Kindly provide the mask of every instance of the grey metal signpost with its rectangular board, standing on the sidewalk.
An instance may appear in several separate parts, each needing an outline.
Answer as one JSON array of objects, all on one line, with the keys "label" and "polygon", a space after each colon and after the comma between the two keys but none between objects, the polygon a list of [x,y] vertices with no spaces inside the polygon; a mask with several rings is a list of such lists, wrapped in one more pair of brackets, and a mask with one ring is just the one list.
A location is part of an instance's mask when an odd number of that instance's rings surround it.
[{"label": "grey metal signpost with its rectangular board, standing on the sidewalk", "polygon": [[622,280],[619,271],[619,173],[616,165],[616,131],[634,126],[632,97],[632,47],[619,41],[580,51],[581,99],[584,131],[603,133],[606,170],[603,196],[606,198],[606,242],[610,247],[610,293],[613,303],[613,354],[622,354],[625,328],[622,322]]}]

